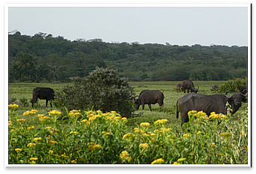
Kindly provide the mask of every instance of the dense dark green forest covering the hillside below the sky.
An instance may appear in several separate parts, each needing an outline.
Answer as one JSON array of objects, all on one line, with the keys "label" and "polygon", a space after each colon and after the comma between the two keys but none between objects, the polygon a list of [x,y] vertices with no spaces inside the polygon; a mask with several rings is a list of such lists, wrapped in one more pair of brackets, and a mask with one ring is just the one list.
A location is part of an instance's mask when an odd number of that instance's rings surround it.
[{"label": "dense dark green forest covering the hillside below the sky", "polygon": [[9,82],[70,82],[97,66],[131,81],[232,80],[247,77],[247,46],[178,46],[66,40],[39,32],[9,34]]}]

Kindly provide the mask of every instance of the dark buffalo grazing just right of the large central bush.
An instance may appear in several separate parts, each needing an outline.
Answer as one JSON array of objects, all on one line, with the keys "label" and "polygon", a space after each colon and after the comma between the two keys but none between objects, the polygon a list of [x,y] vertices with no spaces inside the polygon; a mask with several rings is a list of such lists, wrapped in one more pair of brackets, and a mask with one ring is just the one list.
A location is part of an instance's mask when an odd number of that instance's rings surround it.
[{"label": "dark buffalo grazing just right of the large central bush", "polygon": [[[148,104],[151,110],[151,104],[159,104],[160,109],[163,107],[163,92],[158,90],[144,90],[139,94],[139,98],[135,99],[136,110],[139,110],[139,106],[142,104],[142,110],[144,110],[145,104]],[[152,110],[151,110],[152,111]]]}]

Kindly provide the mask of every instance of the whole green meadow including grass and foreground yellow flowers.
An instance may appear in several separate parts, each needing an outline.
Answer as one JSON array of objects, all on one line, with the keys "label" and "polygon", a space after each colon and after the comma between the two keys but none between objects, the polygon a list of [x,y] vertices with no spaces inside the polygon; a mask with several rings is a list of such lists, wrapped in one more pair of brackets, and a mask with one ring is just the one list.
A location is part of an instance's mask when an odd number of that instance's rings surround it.
[{"label": "whole green meadow including grass and foreground yellow flowers", "polygon": [[[60,119],[58,113],[52,112],[57,109],[45,107],[44,100],[39,100],[36,108],[31,107],[32,89],[49,87],[58,91],[67,83],[9,83],[9,101],[28,103],[26,107],[9,109],[9,162],[247,163],[247,104],[242,104],[236,114],[227,115],[228,119],[223,116],[204,120],[203,113],[194,119],[193,113],[191,121],[181,127],[181,118],[176,118],[176,101],[184,93],[175,89],[178,83],[181,82],[131,82],[136,95],[145,89],[163,92],[164,107],[160,111],[158,104],[151,105],[151,112],[146,105],[132,118],[123,119],[115,112],[83,112],[79,108],[62,113],[65,116]],[[194,86],[200,87],[200,94],[213,95],[216,92],[210,90],[212,86],[222,83],[195,81]],[[44,118],[34,113],[24,115],[32,109]],[[224,121],[217,124],[218,119]],[[229,131],[225,126],[230,127]],[[23,137],[23,142],[17,137]]]}]

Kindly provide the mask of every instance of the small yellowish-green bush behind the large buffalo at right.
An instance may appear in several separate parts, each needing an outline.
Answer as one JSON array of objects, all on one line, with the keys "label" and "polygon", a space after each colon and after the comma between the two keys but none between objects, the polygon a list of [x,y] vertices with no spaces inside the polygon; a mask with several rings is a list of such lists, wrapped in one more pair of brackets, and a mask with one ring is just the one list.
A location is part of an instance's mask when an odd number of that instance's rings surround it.
[{"label": "small yellowish-green bush behind the large buffalo at right", "polygon": [[239,92],[241,86],[247,86],[247,77],[244,79],[237,78],[236,80],[228,80],[226,83],[218,86],[217,92]]}]

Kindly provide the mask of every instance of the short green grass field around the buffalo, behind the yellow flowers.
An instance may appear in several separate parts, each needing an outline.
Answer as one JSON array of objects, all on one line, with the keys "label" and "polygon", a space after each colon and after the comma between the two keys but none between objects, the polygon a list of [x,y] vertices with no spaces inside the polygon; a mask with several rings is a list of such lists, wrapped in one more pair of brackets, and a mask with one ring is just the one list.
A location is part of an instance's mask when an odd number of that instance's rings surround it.
[{"label": "short green grass field around the buffalo, behind the yellow flowers", "polygon": [[[181,118],[176,118],[176,101],[178,98],[184,96],[183,92],[177,92],[175,87],[179,81],[168,81],[168,82],[130,82],[130,84],[135,88],[136,95],[139,95],[145,89],[150,90],[160,90],[164,94],[164,107],[163,111],[160,112],[160,107],[158,104],[151,105],[152,112],[149,110],[148,105],[145,106],[145,110],[142,110],[142,106],[138,111],[135,112],[133,118],[129,118],[129,121],[126,123],[131,128],[136,127],[141,122],[150,122],[153,123],[160,118],[166,118],[169,120],[170,126],[175,129],[180,129]],[[214,95],[216,92],[212,92],[210,89],[213,85],[221,85],[224,81],[194,81],[194,86],[197,88],[199,86],[199,94],[203,95]],[[32,110],[31,100],[32,100],[32,90],[35,87],[49,87],[55,91],[59,91],[62,86],[72,83],[10,83],[8,89],[9,102],[20,101],[22,98],[27,99],[29,103],[28,107],[19,107],[17,108],[17,113],[22,115],[26,110]],[[39,113],[47,115],[50,110],[56,108],[45,107],[44,100],[38,100],[37,108]],[[79,109],[79,108],[78,108]],[[239,111],[235,115],[240,115],[242,111],[245,110],[245,104],[242,104],[242,107],[239,108]]]}]

